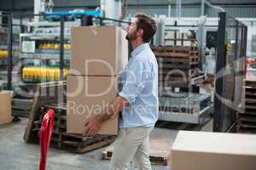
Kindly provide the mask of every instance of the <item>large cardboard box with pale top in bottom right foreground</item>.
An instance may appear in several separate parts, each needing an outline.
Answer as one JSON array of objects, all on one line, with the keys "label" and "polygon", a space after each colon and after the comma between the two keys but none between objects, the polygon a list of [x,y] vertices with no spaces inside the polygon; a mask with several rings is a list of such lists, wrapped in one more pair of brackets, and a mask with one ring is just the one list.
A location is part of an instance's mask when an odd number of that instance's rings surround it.
[{"label": "large cardboard box with pale top in bottom right foreground", "polygon": [[256,135],[180,131],[171,161],[172,170],[254,170]]}]

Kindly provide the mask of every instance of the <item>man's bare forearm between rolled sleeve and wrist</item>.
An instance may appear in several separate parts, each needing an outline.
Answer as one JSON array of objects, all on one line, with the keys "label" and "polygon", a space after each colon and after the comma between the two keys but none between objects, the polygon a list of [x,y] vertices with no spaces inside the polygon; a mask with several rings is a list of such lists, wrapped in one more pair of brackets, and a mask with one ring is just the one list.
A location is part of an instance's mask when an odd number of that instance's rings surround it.
[{"label": "man's bare forearm between rolled sleeve and wrist", "polygon": [[101,116],[102,122],[107,121],[112,116],[115,116],[119,113],[122,109],[125,108],[125,106],[129,105],[129,102],[124,99],[121,96],[118,96],[116,99],[114,99],[113,103],[108,106],[108,108],[104,111],[104,113]]}]

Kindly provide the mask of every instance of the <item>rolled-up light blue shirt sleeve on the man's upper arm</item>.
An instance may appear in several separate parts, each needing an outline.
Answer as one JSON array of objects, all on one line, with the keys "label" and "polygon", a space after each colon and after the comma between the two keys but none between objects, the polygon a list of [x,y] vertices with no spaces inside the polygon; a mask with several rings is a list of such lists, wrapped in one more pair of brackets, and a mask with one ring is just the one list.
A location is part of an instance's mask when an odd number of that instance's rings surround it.
[{"label": "rolled-up light blue shirt sleeve on the man's upper arm", "polygon": [[142,59],[134,59],[124,74],[125,77],[122,81],[119,96],[122,96],[131,104],[136,101],[137,96],[145,88],[149,71]]}]

